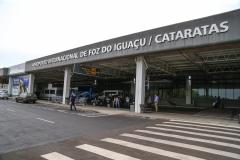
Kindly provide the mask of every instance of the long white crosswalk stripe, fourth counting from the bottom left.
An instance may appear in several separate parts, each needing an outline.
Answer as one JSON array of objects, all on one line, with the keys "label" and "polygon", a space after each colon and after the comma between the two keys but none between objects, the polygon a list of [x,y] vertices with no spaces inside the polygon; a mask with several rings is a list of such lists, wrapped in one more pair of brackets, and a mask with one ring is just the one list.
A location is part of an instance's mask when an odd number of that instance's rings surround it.
[{"label": "long white crosswalk stripe, fourth counting from the bottom left", "polygon": [[145,136],[140,136],[140,135],[136,135],[136,134],[124,133],[124,134],[121,134],[121,136],[145,140],[145,141],[149,141],[149,142],[161,143],[161,144],[166,144],[166,145],[171,145],[171,146],[176,146],[176,147],[181,147],[181,148],[187,148],[187,149],[192,149],[192,150],[197,150],[197,151],[202,151],[202,152],[207,152],[207,153],[230,157],[230,158],[235,158],[235,159],[240,159],[240,154],[226,152],[226,151],[217,150],[217,149],[213,149],[213,148],[207,148],[207,147],[201,147],[201,146],[196,146],[196,145],[192,145],[192,144],[186,144],[186,143],[174,142],[174,141],[169,141],[169,140],[145,137]]}]

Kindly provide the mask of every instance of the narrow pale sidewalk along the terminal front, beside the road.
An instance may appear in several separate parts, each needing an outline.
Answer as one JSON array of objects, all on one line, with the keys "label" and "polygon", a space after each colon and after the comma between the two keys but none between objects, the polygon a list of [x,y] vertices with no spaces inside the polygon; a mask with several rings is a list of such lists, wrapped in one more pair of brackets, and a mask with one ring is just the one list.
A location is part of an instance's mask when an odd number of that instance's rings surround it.
[{"label": "narrow pale sidewalk along the terminal front, beside the road", "polygon": [[[62,107],[65,109],[69,109],[69,105],[59,104],[59,103],[52,103],[48,101],[38,100],[37,103],[39,104],[47,104],[47,105],[53,105],[57,107]],[[181,113],[167,113],[167,112],[152,112],[152,113],[135,113],[130,112],[129,110],[124,109],[115,109],[115,108],[107,108],[107,107],[98,107],[98,106],[76,106],[78,110],[83,111],[95,111],[102,114],[107,115],[126,115],[126,116],[137,116],[142,118],[150,118],[150,119],[174,119],[174,120],[181,120],[181,121],[190,121],[190,122],[199,122],[199,123],[207,123],[207,124],[219,124],[219,125],[225,125],[225,126],[237,126],[240,127],[240,124],[238,124],[238,120],[236,117],[234,119],[231,119],[231,117],[228,114],[223,114],[223,116],[214,116],[212,113],[208,113],[207,111],[204,111],[203,113],[197,113],[197,114],[181,114]]]}]

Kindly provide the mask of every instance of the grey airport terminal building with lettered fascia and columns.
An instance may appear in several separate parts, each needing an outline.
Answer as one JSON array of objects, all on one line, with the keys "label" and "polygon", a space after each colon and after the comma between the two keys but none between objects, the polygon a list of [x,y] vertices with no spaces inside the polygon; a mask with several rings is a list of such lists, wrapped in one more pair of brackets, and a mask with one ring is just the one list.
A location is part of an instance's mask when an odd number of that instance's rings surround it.
[{"label": "grey airport terminal building with lettered fascia and columns", "polygon": [[2,68],[0,83],[13,96],[57,95],[64,104],[71,91],[121,91],[136,113],[155,94],[161,105],[209,107],[219,96],[239,106],[239,17],[240,9],[69,49]]}]

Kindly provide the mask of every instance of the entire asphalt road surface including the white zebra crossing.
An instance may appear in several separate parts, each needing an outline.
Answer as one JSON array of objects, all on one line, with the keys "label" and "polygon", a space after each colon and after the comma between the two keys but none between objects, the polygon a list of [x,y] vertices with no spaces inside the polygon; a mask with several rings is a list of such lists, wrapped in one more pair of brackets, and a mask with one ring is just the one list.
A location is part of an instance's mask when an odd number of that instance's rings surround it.
[{"label": "entire asphalt road surface including the white zebra crossing", "polygon": [[0,101],[0,160],[46,159],[240,159],[240,127]]}]

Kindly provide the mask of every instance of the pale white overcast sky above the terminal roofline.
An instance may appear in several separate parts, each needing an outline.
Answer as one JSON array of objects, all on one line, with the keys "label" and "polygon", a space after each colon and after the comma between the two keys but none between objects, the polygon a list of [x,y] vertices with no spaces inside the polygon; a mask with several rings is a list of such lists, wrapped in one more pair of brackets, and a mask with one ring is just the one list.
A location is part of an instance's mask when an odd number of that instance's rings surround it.
[{"label": "pale white overcast sky above the terminal roofline", "polygon": [[0,0],[0,68],[240,8],[240,0]]}]

